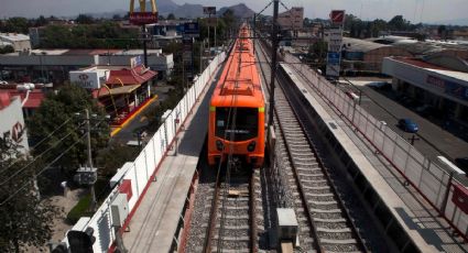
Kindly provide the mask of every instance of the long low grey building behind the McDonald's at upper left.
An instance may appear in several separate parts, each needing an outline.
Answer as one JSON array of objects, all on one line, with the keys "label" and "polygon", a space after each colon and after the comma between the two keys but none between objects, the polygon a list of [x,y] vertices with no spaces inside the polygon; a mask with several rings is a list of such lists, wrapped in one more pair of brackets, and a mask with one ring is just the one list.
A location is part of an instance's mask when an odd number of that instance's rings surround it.
[{"label": "long low grey building behind the McDonald's at upper left", "polygon": [[[131,58],[143,55],[142,50],[33,50],[0,55],[0,72],[19,81],[63,84],[68,73],[89,66],[130,65]],[[170,75],[174,68],[172,54],[161,50],[148,50],[148,67]]]}]

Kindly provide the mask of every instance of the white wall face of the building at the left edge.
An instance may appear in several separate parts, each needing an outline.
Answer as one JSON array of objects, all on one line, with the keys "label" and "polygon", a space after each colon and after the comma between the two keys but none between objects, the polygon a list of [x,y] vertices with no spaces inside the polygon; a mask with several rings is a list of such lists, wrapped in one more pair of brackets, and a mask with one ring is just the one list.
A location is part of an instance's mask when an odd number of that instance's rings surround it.
[{"label": "white wall face of the building at the left edge", "polygon": [[23,129],[22,133],[18,131],[20,135],[17,143],[22,146],[21,152],[26,153],[29,151],[28,134],[20,97],[13,97],[11,103],[7,108],[0,110],[0,139],[12,139],[13,131],[15,131],[13,130],[14,125],[17,125],[17,131]]}]

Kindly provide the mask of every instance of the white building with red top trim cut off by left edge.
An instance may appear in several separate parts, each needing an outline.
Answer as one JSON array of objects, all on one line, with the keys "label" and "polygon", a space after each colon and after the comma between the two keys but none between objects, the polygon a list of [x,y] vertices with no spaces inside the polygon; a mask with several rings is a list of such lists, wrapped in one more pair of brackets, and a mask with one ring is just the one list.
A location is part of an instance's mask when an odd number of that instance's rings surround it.
[{"label": "white building with red top trim cut off by left edge", "polygon": [[25,154],[29,145],[21,103],[19,96],[0,92],[0,139],[12,140],[20,146],[20,152]]}]

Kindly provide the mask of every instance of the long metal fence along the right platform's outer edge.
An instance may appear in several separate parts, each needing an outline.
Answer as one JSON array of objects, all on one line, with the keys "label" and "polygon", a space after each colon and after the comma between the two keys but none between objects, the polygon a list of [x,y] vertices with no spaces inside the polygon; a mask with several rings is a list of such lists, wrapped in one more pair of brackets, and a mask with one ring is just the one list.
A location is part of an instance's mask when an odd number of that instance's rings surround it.
[{"label": "long metal fence along the right platform's outer edge", "polygon": [[[459,204],[468,199],[468,196],[466,190],[458,190],[466,187],[453,177],[451,173],[425,157],[406,140],[388,128],[385,123],[369,114],[355,100],[315,70],[304,64],[297,64],[300,61],[296,57],[286,54],[285,62],[294,63],[291,66],[301,73],[315,90],[372,144],[376,152],[383,155],[439,215],[451,223],[465,239],[467,238],[468,216]],[[460,201],[454,201],[456,198],[459,198]]]}]

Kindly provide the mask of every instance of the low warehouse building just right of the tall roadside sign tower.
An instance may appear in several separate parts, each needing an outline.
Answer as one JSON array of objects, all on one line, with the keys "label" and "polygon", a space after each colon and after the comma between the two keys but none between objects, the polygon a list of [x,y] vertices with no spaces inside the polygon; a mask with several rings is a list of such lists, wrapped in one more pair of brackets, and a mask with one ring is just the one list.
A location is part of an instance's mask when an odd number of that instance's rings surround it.
[{"label": "low warehouse building just right of the tall roadside sign tower", "polygon": [[352,37],[342,37],[341,51],[344,69],[347,70],[380,73],[384,57],[412,56],[404,48]]}]

